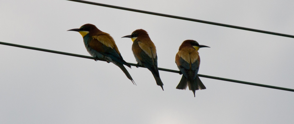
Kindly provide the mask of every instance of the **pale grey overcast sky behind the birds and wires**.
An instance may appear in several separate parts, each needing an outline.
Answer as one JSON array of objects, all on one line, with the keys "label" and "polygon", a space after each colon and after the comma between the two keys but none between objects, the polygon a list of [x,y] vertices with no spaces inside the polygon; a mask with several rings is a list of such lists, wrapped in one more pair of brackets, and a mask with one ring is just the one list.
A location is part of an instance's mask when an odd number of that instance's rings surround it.
[{"label": "pale grey overcast sky behind the birds and wires", "polygon": [[[92,0],[93,2],[294,35],[293,0]],[[78,32],[109,33],[136,63],[130,35],[144,29],[158,67],[178,70],[184,40],[201,45],[199,74],[294,89],[294,38],[66,0],[0,0],[0,41],[90,56]],[[200,77],[207,89],[178,90],[182,75],[0,45],[1,124],[294,123],[294,93]]]}]

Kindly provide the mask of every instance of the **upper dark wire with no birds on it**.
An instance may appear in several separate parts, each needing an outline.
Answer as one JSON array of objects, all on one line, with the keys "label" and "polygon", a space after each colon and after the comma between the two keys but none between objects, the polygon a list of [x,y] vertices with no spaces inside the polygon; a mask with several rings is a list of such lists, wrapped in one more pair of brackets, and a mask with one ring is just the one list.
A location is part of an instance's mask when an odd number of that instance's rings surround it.
[{"label": "upper dark wire with no birds on it", "polygon": [[92,4],[92,5],[97,5],[97,6],[104,6],[104,7],[110,7],[110,8],[115,8],[115,9],[122,9],[122,10],[127,10],[127,11],[134,11],[134,12],[139,12],[139,13],[157,15],[157,16],[164,16],[164,17],[169,17],[169,18],[174,18],[174,19],[195,21],[195,22],[218,25],[218,26],[229,27],[229,28],[234,28],[234,29],[241,29],[241,30],[254,31],[254,32],[259,32],[259,33],[267,33],[267,34],[272,34],[272,35],[278,35],[278,36],[294,38],[293,35],[288,35],[288,34],[283,34],[283,33],[275,33],[275,32],[270,32],[270,31],[250,29],[250,28],[245,28],[245,27],[240,27],[240,26],[233,26],[233,25],[221,24],[221,23],[216,23],[216,22],[211,22],[211,21],[203,21],[203,20],[198,20],[198,19],[191,19],[191,18],[185,18],[185,17],[180,17],[180,16],[173,16],[173,15],[167,15],[167,14],[143,11],[143,10],[138,10],[138,9],[130,9],[130,8],[125,8],[125,7],[120,7],[120,6],[112,6],[112,5],[107,5],[107,4],[100,4],[100,3],[90,2],[90,1],[83,1],[83,0],[68,0],[68,1],[75,1],[75,2],[79,2],[79,3]]}]

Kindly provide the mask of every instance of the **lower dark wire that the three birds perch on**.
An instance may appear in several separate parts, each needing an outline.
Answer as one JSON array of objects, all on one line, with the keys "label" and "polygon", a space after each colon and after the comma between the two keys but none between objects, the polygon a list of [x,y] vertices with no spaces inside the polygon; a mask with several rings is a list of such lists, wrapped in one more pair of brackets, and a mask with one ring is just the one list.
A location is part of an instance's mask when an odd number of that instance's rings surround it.
[{"label": "lower dark wire that the three birds perch on", "polygon": [[[32,49],[32,50],[38,50],[38,51],[44,51],[44,52],[49,52],[49,53],[57,53],[57,54],[62,54],[62,55],[68,55],[68,56],[75,56],[75,57],[81,57],[81,58],[88,58],[88,59],[104,61],[104,60],[101,60],[99,58],[95,58],[95,57],[91,57],[91,56],[83,56],[83,55],[78,55],[78,54],[73,54],[73,53],[66,53],[66,52],[60,52],[60,51],[54,51],[54,50],[48,50],[48,49],[42,49],[42,48],[36,48],[36,47],[30,47],[30,46],[23,46],[23,45],[12,44],[12,43],[0,42],[0,44],[8,45],[8,46],[20,47],[20,48],[26,48],[26,49]],[[134,64],[134,63],[128,63],[128,64],[130,64],[131,66],[138,66],[137,64]],[[142,66],[138,66],[138,67],[142,67]],[[145,68],[145,67],[143,67],[143,68]],[[180,71],[166,69],[166,68],[158,68],[158,70],[181,74]],[[207,75],[202,75],[202,74],[198,74],[198,76],[199,77],[204,77],[204,78],[211,78],[211,79],[216,79],[216,80],[229,81],[229,82],[242,83],[242,84],[248,84],[248,85],[253,85],[253,86],[260,86],[260,87],[273,88],[273,89],[278,89],[278,90],[294,92],[294,89],[289,89],[289,88],[282,88],[282,87],[276,87],[276,86],[270,86],[270,85],[264,85],[264,84],[258,84],[258,83],[238,81],[238,80],[232,80],[232,79],[227,79],[227,78],[219,78],[219,77],[207,76]]]}]

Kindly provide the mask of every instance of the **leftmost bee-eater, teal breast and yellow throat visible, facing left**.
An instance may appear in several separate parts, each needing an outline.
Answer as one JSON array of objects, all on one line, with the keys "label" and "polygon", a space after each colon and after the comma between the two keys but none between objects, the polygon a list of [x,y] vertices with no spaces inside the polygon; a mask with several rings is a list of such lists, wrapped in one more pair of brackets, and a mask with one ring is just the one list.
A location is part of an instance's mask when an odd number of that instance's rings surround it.
[{"label": "leftmost bee-eater, teal breast and yellow throat visible, facing left", "polygon": [[130,68],[131,66],[123,60],[123,57],[121,56],[121,53],[119,53],[113,38],[108,33],[100,31],[95,25],[92,24],[85,24],[79,29],[71,29],[68,31],[78,31],[83,36],[84,44],[91,56],[105,60],[108,63],[114,63],[121,68],[123,73],[126,74],[133,84],[136,84],[123,65]]}]

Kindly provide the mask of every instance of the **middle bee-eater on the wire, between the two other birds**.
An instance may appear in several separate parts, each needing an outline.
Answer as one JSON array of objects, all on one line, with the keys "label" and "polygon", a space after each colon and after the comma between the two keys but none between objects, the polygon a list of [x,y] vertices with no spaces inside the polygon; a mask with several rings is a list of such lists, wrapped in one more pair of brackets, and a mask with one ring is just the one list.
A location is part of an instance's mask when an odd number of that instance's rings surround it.
[{"label": "middle bee-eater on the wire, between the two other birds", "polygon": [[138,64],[148,68],[148,70],[152,72],[156,84],[158,86],[161,86],[163,90],[163,83],[159,77],[157,67],[156,48],[154,43],[151,41],[148,33],[143,29],[138,29],[136,31],[133,31],[131,35],[124,37],[132,39],[132,51],[136,58],[136,61],[138,62]]}]

